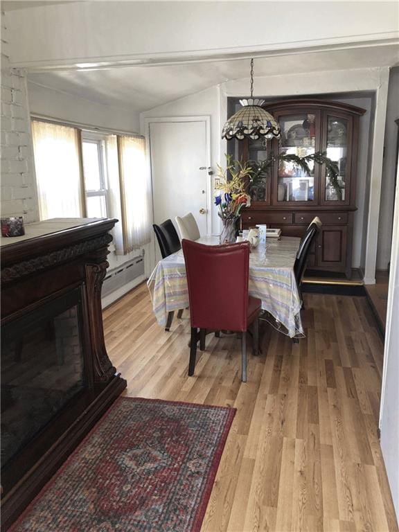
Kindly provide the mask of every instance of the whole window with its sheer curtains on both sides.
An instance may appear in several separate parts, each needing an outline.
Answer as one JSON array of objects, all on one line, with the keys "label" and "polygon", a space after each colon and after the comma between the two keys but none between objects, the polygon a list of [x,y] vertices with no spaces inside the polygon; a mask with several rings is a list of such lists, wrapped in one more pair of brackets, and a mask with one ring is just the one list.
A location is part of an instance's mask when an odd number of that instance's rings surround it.
[{"label": "whole window with its sheer curtains on both sides", "polygon": [[141,135],[32,121],[40,219],[117,218],[116,253],[151,239],[151,186]]}]

